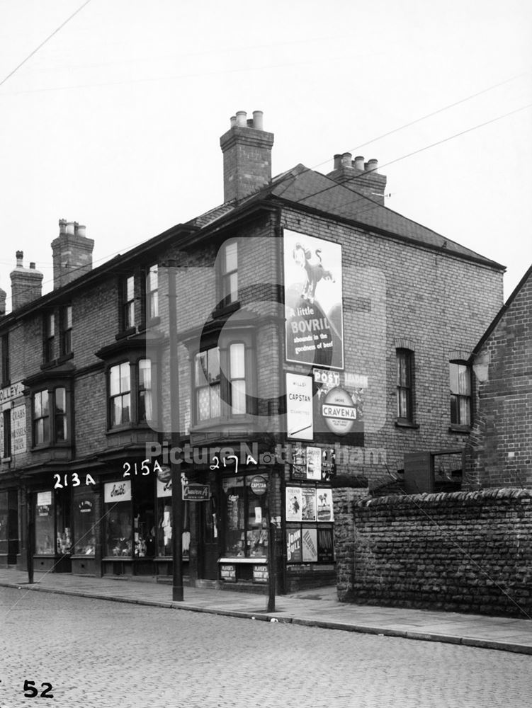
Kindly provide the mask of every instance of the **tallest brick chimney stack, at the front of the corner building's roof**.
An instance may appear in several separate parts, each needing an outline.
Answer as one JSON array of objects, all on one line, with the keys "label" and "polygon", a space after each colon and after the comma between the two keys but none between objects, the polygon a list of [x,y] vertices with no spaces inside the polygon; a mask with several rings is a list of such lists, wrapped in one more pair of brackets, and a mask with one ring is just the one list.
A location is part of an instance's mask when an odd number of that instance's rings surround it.
[{"label": "tallest brick chimney stack, at the front of the corner building's roof", "polygon": [[220,138],[224,156],[224,202],[253,194],[271,181],[273,133],[263,130],[261,110],[247,118],[239,110],[230,129]]}]

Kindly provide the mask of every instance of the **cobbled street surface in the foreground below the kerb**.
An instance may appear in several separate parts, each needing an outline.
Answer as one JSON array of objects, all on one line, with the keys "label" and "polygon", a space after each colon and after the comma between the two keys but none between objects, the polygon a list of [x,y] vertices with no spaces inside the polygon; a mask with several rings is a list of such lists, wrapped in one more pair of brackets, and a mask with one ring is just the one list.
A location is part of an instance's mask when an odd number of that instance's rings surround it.
[{"label": "cobbled street surface in the foreground below the kerb", "polygon": [[[491,708],[532,657],[0,588],[0,708]],[[43,696],[46,698],[47,696]]]}]

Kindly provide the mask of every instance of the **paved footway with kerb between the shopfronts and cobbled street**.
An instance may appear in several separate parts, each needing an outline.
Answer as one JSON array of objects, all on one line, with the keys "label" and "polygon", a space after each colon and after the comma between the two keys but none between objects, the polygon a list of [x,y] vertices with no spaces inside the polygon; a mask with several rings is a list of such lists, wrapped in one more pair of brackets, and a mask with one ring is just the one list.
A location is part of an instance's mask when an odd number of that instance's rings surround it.
[{"label": "paved footway with kerb between the shopfronts and cobbled street", "polygon": [[0,587],[532,654],[531,619],[340,603],[334,586],[277,595],[275,611],[267,612],[267,595],[215,588],[185,586],[183,601],[173,602],[171,585],[155,578],[35,572],[34,581],[23,571],[0,569]]}]

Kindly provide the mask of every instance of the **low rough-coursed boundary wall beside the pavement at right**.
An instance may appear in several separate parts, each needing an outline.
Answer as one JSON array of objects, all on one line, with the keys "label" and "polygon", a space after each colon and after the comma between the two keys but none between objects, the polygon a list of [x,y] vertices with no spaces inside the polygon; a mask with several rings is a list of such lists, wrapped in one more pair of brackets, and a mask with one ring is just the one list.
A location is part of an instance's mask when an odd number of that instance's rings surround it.
[{"label": "low rough-coursed boundary wall beside the pavement at right", "polygon": [[336,490],[339,600],[532,619],[531,490],[360,493]]}]

